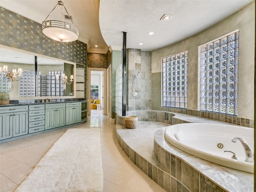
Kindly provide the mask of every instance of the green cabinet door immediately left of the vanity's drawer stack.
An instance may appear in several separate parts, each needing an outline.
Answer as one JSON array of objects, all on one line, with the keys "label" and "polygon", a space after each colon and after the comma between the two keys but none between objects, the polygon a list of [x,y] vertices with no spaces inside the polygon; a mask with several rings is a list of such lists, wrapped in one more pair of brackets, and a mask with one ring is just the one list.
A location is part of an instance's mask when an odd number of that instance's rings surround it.
[{"label": "green cabinet door immediately left of the vanity's drawer stack", "polygon": [[14,112],[13,113],[13,136],[20,136],[28,134],[28,112]]}]

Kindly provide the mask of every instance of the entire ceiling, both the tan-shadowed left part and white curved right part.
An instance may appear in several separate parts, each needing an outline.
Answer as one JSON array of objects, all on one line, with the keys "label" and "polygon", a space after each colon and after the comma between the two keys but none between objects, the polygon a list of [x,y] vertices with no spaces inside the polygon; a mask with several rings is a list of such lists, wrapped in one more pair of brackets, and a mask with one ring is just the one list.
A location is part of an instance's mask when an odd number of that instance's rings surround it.
[{"label": "entire ceiling, both the tan-shadowed left part and white curved right part", "polygon": [[[42,23],[58,0],[0,0],[0,6]],[[192,36],[240,10],[253,0],[63,0],[88,52],[122,48],[156,50]],[[164,14],[174,15],[163,22]],[[60,17],[54,10],[51,19]],[[153,31],[154,35],[148,35]],[[106,42],[106,43],[105,43]],[[143,45],[138,45],[142,42]],[[98,48],[95,47],[98,45]]]}]

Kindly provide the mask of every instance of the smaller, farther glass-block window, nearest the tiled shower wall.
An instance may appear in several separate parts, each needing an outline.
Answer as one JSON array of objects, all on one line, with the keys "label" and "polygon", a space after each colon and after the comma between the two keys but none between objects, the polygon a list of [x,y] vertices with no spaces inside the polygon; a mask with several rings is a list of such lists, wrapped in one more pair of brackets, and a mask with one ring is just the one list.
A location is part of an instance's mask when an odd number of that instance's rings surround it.
[{"label": "smaller, farther glass-block window, nearest the tiled shower wall", "polygon": [[162,104],[188,108],[188,51],[162,58]]}]

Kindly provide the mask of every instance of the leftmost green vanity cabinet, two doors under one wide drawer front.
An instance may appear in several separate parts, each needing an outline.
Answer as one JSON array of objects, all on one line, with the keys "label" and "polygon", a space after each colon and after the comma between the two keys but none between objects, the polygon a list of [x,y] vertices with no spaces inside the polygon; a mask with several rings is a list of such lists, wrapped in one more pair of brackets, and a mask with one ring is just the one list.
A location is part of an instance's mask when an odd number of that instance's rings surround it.
[{"label": "leftmost green vanity cabinet, two doors under one wide drawer front", "polygon": [[0,109],[0,140],[28,134],[28,105]]}]

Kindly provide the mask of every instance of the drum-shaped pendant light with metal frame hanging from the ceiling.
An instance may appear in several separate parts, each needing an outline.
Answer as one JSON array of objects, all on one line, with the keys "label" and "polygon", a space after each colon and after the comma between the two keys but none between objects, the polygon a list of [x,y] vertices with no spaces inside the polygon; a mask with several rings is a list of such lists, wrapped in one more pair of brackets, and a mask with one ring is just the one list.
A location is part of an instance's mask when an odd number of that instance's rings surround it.
[{"label": "drum-shaped pendant light with metal frame hanging from the ceiling", "polygon": [[[52,14],[53,10],[56,8],[57,5],[60,6],[61,9],[62,21],[46,20],[50,16],[50,14]],[[78,29],[75,27],[72,17],[68,14],[68,11],[64,6],[64,3],[62,1],[58,1],[56,6],[42,22],[42,32],[47,37],[60,42],[72,42],[77,40],[79,36]],[[66,10],[68,17],[72,21],[73,25],[63,21],[63,8]]]}]

